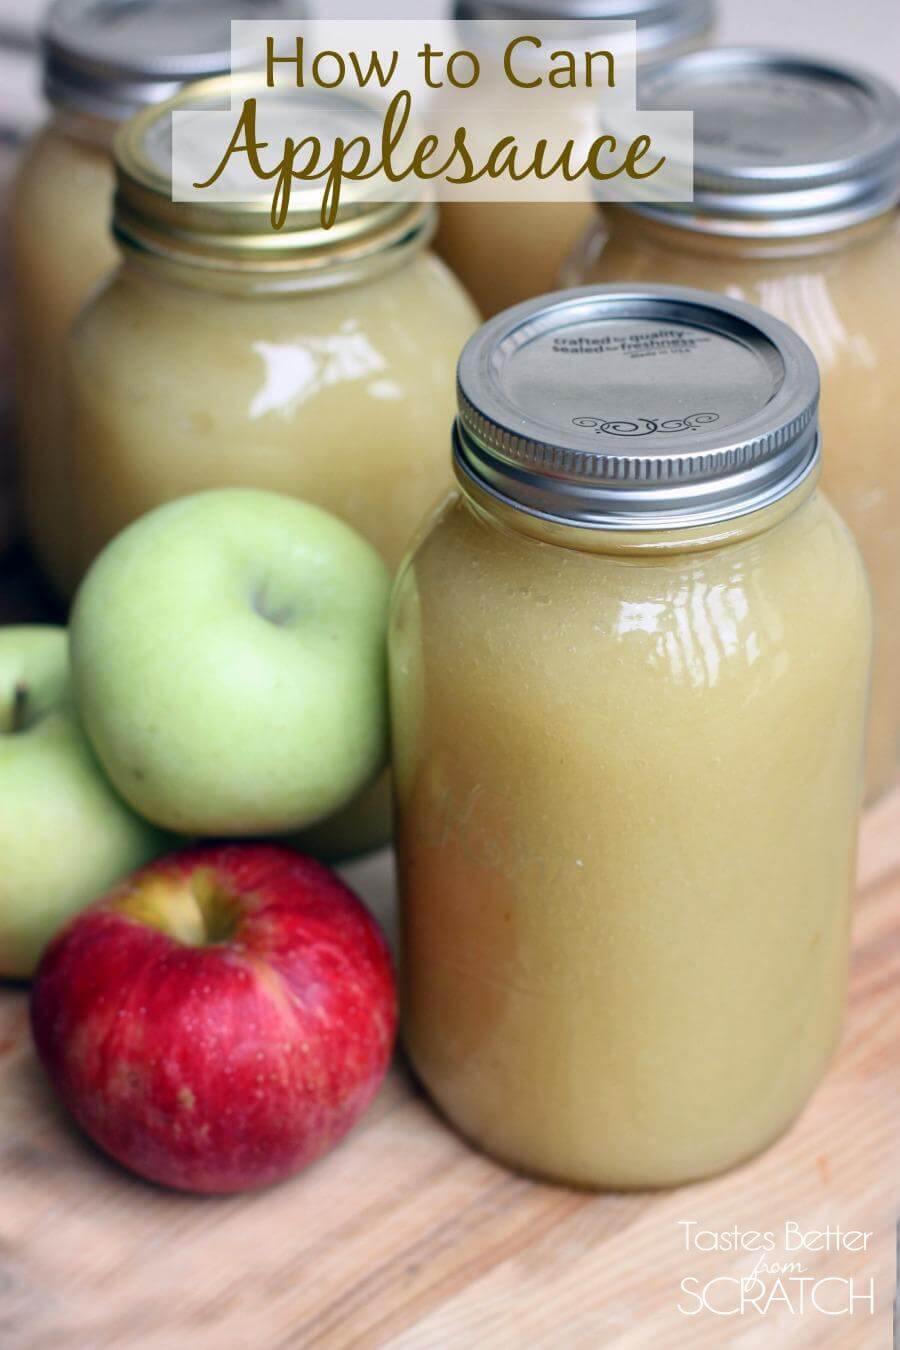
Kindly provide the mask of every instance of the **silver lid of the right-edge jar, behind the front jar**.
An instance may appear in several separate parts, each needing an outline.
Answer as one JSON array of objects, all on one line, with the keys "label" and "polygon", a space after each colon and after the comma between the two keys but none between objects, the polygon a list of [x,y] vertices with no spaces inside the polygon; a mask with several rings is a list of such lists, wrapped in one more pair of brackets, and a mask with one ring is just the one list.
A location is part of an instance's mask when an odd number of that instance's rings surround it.
[{"label": "silver lid of the right-edge jar, behind the front jar", "polygon": [[710,49],[645,74],[640,104],[694,111],[694,201],[636,205],[646,215],[694,230],[806,235],[872,219],[900,198],[900,94],[869,72]]}]

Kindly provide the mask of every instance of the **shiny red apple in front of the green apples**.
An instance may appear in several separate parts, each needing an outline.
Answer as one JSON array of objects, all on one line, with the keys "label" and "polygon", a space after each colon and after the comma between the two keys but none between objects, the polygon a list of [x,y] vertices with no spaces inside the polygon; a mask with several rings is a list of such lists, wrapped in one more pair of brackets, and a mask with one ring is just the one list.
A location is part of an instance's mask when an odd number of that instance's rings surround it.
[{"label": "shiny red apple in front of the green apples", "polygon": [[[196,888],[233,915],[210,945],[184,941]],[[278,845],[201,845],[58,934],[31,1025],[101,1149],[216,1195],[279,1181],[354,1126],[390,1061],[397,995],[381,929],[328,868]]]}]

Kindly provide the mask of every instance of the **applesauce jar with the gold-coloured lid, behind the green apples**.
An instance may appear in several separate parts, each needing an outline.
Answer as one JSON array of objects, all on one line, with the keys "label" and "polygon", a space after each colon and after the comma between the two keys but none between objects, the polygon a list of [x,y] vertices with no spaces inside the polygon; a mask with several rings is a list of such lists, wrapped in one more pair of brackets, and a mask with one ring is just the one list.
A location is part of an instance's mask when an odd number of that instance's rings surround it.
[{"label": "applesauce jar with the gold-coloured lid, behind the green apples", "polygon": [[[227,486],[324,506],[393,568],[451,482],[443,441],[478,315],[426,247],[434,208],[358,202],[325,231],[301,201],[274,232],[252,202],[173,202],[159,128],[229,96],[229,81],[188,86],[116,142],[123,261],[69,339],[70,586],[138,516]],[[383,842],[387,810],[382,783],[309,846]]]}]

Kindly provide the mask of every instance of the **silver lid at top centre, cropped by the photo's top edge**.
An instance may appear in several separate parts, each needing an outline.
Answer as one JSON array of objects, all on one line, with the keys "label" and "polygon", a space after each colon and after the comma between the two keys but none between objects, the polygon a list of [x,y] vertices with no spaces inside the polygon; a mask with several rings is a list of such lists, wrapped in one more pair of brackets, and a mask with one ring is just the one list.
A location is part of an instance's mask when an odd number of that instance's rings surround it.
[{"label": "silver lid at top centre, cropped by the photo's top edge", "polygon": [[457,0],[456,18],[467,19],[595,19],[637,23],[638,55],[658,59],[673,55],[710,32],[712,0]]}]

